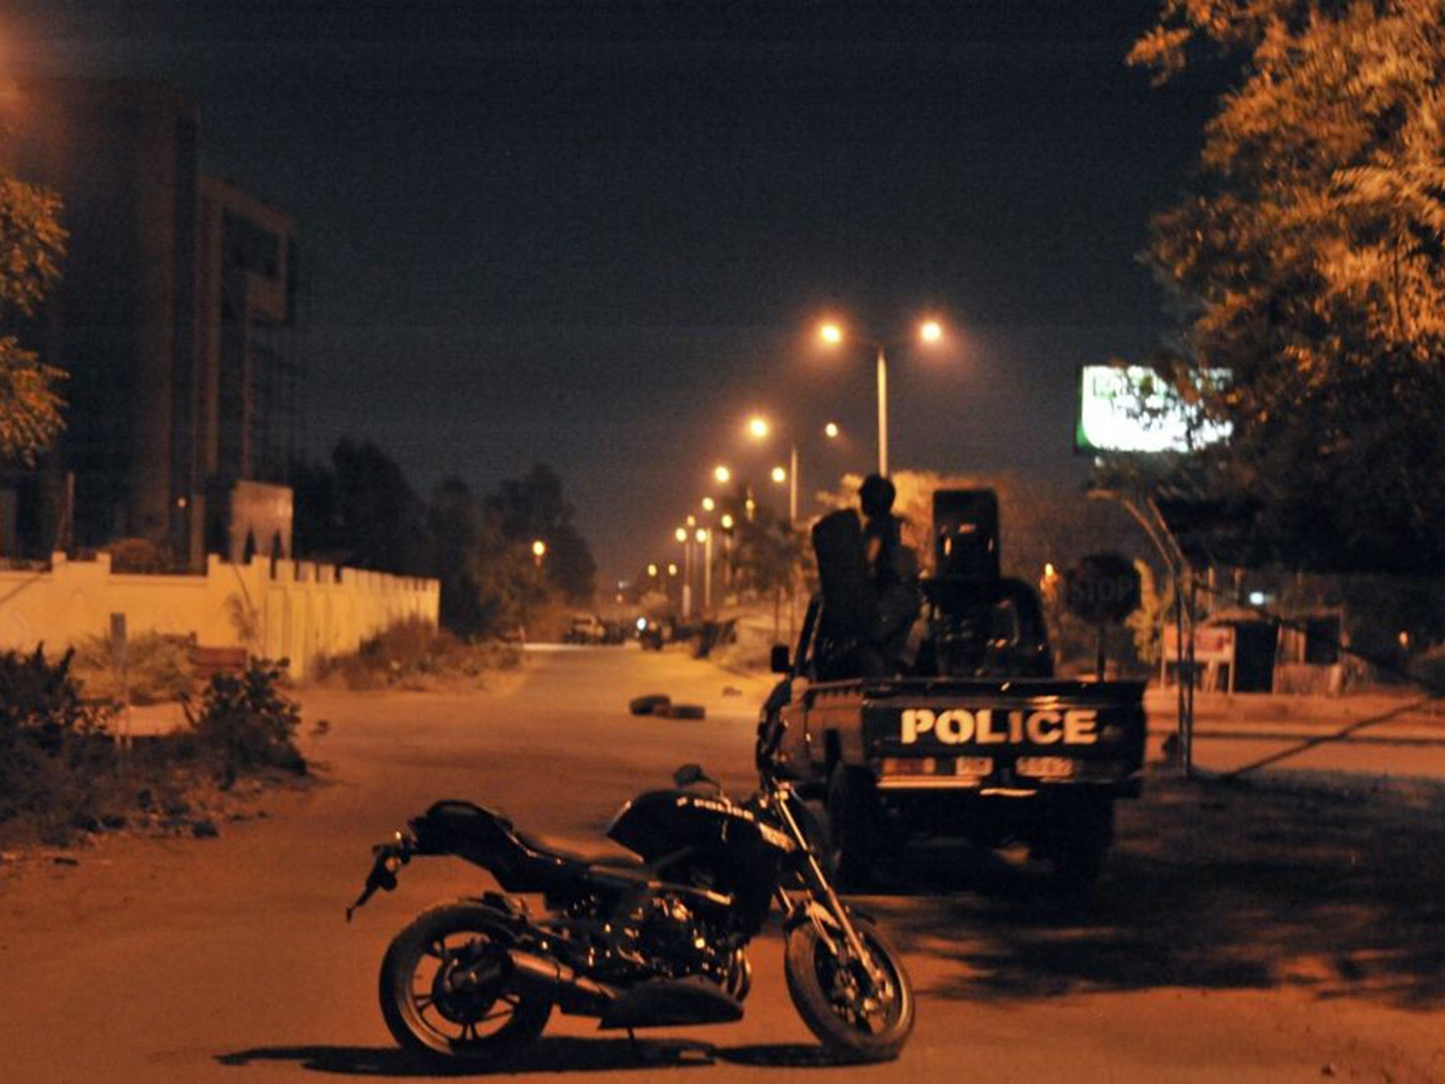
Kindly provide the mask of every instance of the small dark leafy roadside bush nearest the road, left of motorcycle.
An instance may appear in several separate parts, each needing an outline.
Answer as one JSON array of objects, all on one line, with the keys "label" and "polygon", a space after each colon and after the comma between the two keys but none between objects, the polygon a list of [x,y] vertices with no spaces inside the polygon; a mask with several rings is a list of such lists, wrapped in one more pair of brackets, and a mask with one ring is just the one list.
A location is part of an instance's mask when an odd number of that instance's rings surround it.
[{"label": "small dark leafy roadside bush nearest the road, left of motorcycle", "polygon": [[285,661],[257,659],[244,674],[217,674],[201,692],[198,710],[186,705],[202,756],[218,762],[224,782],[267,767],[305,775],[296,746],[301,707],[282,695]]}]

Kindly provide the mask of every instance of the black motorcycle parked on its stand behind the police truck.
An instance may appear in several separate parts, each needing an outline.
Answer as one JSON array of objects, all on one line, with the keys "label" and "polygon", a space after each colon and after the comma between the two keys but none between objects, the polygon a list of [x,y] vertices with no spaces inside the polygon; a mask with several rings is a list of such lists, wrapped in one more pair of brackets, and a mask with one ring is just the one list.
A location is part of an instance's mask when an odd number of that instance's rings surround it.
[{"label": "black motorcycle parked on its stand behind the police truck", "polygon": [[[772,770],[769,744],[760,727],[760,785],[743,801],[685,765],[673,789],[627,802],[607,835],[636,857],[568,854],[462,801],[436,802],[374,847],[347,921],[420,856],[471,861],[503,889],[434,906],[396,935],[379,990],[392,1036],[484,1064],[538,1038],[553,1009],[629,1033],[741,1019],[747,945],[776,903],[788,991],[812,1033],[838,1059],[897,1057],[913,1029],[907,973],[834,892],[812,818]],[[519,893],[540,893],[545,912]]]}]

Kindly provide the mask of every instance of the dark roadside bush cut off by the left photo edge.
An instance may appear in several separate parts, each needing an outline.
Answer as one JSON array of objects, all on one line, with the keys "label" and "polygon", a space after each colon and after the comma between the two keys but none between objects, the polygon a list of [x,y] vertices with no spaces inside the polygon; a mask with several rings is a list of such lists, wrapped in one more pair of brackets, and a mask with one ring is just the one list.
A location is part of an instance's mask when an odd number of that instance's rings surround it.
[{"label": "dark roadside bush cut off by the left photo edge", "polygon": [[114,770],[111,713],[81,698],[71,661],[46,661],[43,645],[0,653],[0,822],[27,817],[52,834],[55,818],[92,815]]}]

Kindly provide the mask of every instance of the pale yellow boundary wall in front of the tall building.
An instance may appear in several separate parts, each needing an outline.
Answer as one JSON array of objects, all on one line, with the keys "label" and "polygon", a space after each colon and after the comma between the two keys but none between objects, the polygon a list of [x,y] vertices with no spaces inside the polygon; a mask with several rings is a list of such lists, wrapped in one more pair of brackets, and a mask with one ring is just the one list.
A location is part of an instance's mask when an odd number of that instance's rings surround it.
[{"label": "pale yellow boundary wall in front of the tall building", "polygon": [[94,561],[51,556],[43,571],[0,571],[0,648],[62,650],[108,635],[110,616],[126,614],[130,636],[195,636],[210,648],[246,648],[289,659],[298,678],[319,659],[345,655],[396,621],[436,624],[435,580],[338,568],[314,561],[253,558],[233,565],[207,559],[205,575],[113,572],[110,554]]}]

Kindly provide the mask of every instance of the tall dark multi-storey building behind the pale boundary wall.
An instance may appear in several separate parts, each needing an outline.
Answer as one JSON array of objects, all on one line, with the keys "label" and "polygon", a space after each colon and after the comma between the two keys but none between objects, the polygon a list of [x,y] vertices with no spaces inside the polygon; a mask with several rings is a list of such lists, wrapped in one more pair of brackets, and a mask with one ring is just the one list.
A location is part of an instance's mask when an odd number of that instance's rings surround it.
[{"label": "tall dark multi-storey building behind the pale boundary wall", "polygon": [[[7,113],[17,175],[64,199],[64,278],[26,338],[69,377],[58,447],[0,496],[0,554],[237,556],[236,483],[285,483],[299,425],[292,220],[202,171],[172,87],[39,79]],[[266,551],[289,556],[289,528]]]}]

